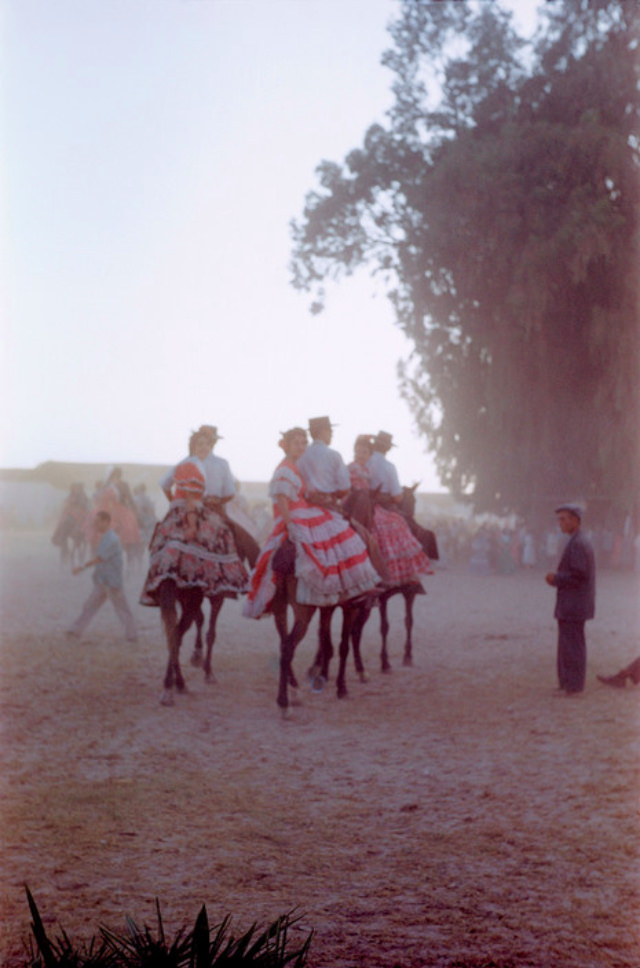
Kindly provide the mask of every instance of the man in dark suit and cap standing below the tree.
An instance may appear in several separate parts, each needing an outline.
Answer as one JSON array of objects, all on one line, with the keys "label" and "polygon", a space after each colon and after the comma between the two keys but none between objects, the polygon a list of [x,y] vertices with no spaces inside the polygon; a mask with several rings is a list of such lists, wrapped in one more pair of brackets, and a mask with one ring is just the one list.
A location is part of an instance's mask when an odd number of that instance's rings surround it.
[{"label": "man in dark suit and cap standing below the tree", "polygon": [[582,509],[577,504],[556,508],[558,526],[569,541],[556,572],[545,577],[557,589],[554,617],[558,621],[558,684],[568,696],[584,689],[587,645],[584,623],[595,615],[596,566],[593,548],[582,534]]}]

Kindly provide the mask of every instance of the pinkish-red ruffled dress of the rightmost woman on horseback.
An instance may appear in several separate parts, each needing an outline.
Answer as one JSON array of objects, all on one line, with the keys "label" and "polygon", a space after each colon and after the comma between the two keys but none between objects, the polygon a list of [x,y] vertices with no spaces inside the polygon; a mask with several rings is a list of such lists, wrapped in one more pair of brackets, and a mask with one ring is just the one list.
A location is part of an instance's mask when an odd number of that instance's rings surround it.
[{"label": "pinkish-red ruffled dress of the rightmost woman on horseback", "polygon": [[[354,490],[363,490],[370,486],[369,472],[366,467],[354,461],[349,464],[347,470]],[[411,533],[409,525],[398,511],[390,511],[376,504],[373,510],[372,530],[387,566],[387,585],[419,583],[421,575],[434,574],[431,562],[422,550],[422,545]]]}]

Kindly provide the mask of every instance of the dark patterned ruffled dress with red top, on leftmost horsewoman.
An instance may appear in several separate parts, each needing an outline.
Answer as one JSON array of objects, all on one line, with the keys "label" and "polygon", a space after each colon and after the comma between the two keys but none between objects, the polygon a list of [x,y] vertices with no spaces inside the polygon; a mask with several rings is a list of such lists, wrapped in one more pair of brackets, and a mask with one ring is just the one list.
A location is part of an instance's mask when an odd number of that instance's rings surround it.
[{"label": "dark patterned ruffled dress with red top, on leftmost horsewoman", "polygon": [[[159,605],[158,590],[167,579],[178,588],[201,588],[207,597],[235,597],[246,591],[247,570],[238,556],[231,528],[216,511],[204,507],[204,489],[204,473],[197,458],[178,464],[173,500],[149,544],[149,571],[141,605]],[[187,522],[188,504],[197,516],[195,536]]]}]

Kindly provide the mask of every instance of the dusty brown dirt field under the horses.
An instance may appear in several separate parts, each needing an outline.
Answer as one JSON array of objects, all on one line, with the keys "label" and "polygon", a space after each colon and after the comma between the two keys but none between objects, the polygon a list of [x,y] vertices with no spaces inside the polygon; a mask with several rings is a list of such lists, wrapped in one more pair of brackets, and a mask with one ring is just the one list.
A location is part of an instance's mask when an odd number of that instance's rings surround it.
[{"label": "dusty brown dirt field under the horses", "polygon": [[[27,882],[55,933],[238,928],[297,908],[313,968],[640,966],[640,687],[601,686],[639,652],[638,581],[601,574],[588,686],[555,687],[553,591],[541,573],[440,571],[418,600],[415,667],[275,705],[271,622],[227,603],[207,686],[159,705],[165,647],[136,606],[124,642],[107,605],[80,643],[64,630],[90,577],[48,535],[4,536],[0,946],[21,963]],[[128,580],[132,602],[142,576]],[[302,677],[312,634],[296,656]],[[296,934],[296,937],[298,935]]]}]

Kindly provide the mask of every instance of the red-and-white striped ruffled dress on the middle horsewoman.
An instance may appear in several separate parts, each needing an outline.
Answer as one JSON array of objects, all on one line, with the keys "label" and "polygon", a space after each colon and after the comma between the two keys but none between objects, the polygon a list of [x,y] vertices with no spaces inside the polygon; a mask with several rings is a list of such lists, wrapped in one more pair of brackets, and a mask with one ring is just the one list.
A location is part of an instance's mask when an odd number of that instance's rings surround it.
[{"label": "red-and-white striped ruffled dress on the middle horsewoman", "polygon": [[[339,514],[305,500],[305,485],[296,465],[287,459],[276,468],[269,486],[272,498],[289,501],[289,538],[296,548],[296,598],[304,605],[337,605],[371,591],[380,577],[366,545]],[[260,618],[270,611],[276,593],[273,556],[287,537],[282,515],[274,505],[274,526],[249,578],[242,614]]]}]

